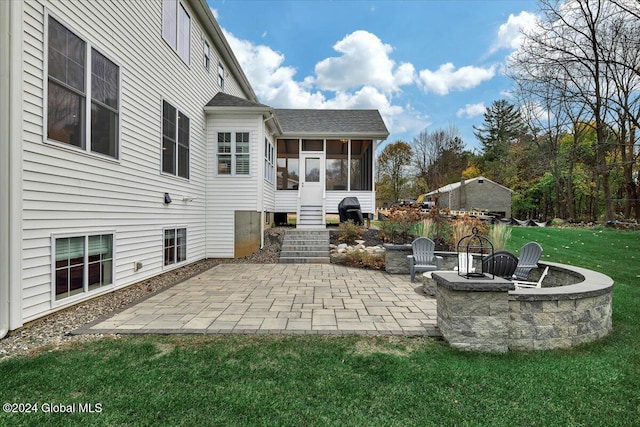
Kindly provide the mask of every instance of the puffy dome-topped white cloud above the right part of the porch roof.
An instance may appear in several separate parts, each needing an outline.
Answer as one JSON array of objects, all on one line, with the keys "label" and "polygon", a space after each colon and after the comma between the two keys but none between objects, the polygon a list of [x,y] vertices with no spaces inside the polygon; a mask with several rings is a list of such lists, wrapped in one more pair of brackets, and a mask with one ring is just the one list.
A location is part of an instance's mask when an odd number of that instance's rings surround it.
[{"label": "puffy dome-topped white cloud above the right part of the porch roof", "polygon": [[322,90],[341,91],[366,85],[394,92],[414,81],[413,65],[396,67],[389,57],[391,45],[368,31],[348,34],[333,48],[342,55],[323,59],[315,67],[315,83]]}]

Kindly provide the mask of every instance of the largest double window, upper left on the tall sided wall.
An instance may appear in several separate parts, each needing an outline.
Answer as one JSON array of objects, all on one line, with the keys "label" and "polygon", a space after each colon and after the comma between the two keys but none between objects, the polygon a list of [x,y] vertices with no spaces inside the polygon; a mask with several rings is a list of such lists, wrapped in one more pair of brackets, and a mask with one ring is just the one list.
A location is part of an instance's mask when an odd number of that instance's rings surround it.
[{"label": "largest double window, upper left on the tall sided wall", "polygon": [[47,139],[118,158],[119,67],[51,16],[47,53]]}]

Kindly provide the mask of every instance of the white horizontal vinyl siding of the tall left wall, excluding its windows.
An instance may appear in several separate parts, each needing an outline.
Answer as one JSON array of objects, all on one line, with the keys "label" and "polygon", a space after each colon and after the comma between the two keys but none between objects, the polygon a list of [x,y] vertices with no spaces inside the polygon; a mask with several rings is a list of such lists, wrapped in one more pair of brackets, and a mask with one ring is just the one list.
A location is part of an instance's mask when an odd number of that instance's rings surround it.
[{"label": "white horizontal vinyl siding of the tall left wall, excluding its windows", "polygon": [[[181,3],[189,7],[189,2]],[[22,42],[22,321],[64,308],[76,297],[52,296],[52,235],[113,230],[114,283],[78,298],[119,289],[162,273],[163,230],[188,228],[185,262],[205,257],[208,165],[203,106],[218,90],[216,73],[186,67],[160,34],[162,2],[24,2]],[[191,32],[205,34],[194,13]],[[119,69],[119,162],[68,144],[46,143],[47,27],[51,15]],[[208,37],[210,35],[207,35]],[[213,37],[213,36],[211,36]],[[210,40],[213,40],[209,38]],[[211,60],[220,53],[211,45]],[[191,55],[202,61],[200,49]],[[245,96],[233,73],[229,93]],[[90,94],[89,94],[90,96]],[[162,101],[190,119],[189,180],[161,174]],[[88,98],[88,102],[91,100]],[[43,126],[44,125],[44,126]],[[88,125],[87,125],[88,126]],[[212,169],[209,169],[212,170]],[[163,203],[164,193],[173,203]],[[134,269],[136,263],[142,267]]]}]

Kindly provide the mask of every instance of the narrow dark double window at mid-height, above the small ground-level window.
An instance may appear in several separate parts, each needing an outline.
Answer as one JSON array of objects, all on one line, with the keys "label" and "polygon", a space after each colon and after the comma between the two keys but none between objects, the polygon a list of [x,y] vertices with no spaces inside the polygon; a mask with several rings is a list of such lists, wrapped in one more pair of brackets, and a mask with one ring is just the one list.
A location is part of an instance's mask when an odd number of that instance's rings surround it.
[{"label": "narrow dark double window at mid-height, above the small ground-level window", "polygon": [[162,102],[162,171],[189,178],[189,118]]}]

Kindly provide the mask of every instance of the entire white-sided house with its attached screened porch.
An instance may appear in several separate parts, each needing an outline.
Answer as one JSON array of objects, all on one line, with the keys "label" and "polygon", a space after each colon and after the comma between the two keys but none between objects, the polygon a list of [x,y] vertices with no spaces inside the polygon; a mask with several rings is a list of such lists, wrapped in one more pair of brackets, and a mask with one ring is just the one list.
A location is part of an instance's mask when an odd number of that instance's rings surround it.
[{"label": "entire white-sided house with its attached screened porch", "polygon": [[0,337],[276,213],[373,212],[378,111],[260,104],[205,0],[0,1],[0,29]]}]

